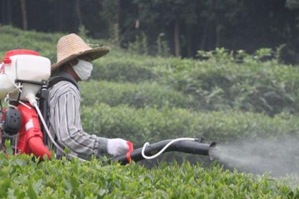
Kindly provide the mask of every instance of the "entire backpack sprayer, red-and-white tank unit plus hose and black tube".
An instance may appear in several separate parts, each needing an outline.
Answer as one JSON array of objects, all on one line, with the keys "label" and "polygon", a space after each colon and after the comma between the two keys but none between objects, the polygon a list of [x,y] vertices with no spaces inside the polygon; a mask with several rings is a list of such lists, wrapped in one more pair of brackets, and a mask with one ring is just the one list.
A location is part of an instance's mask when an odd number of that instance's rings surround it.
[{"label": "entire backpack sprayer, red-and-white tank unit plus hose and black tube", "polygon": [[[44,155],[50,158],[51,151],[46,147],[48,137],[67,157],[77,158],[66,154],[47,128],[47,81],[50,74],[50,60],[35,51],[12,50],[5,53],[0,64],[0,100],[4,98],[9,108],[5,109],[0,104],[0,144],[2,145],[5,139],[15,138],[15,153],[33,153],[40,159]],[[43,124],[42,128],[40,122]],[[112,161],[127,164],[132,160],[137,162],[156,158],[168,151],[210,156],[209,152],[216,143],[203,144],[201,141],[196,138],[178,138],[151,145],[147,142],[143,148],[136,150],[133,143],[128,141],[128,153],[114,157]]]}]

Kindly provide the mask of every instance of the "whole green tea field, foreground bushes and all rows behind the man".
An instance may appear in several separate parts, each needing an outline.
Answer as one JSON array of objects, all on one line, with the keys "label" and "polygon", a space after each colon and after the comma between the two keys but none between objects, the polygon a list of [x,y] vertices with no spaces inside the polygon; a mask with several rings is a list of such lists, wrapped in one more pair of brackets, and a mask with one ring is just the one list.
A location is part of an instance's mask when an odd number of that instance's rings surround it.
[{"label": "whole green tea field, foreground bushes and all rows behind the man", "polygon": [[[26,48],[54,63],[62,35],[0,26],[0,58]],[[233,58],[223,49],[195,60],[132,54],[105,40],[90,43],[112,51],[94,61],[92,80],[80,83],[81,119],[89,133],[132,140],[136,147],[177,137],[229,143],[299,135],[296,66],[242,52]],[[299,198],[291,180],[229,171],[217,162],[202,167],[204,159],[193,159],[201,163],[159,162],[149,169],[95,159],[37,164],[1,154],[0,198]]]}]

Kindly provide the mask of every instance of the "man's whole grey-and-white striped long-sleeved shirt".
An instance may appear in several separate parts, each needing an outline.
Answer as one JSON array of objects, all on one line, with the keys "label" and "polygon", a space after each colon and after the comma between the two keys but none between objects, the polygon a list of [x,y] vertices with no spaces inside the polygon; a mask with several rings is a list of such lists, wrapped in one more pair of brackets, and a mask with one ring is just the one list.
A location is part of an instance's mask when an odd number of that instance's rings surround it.
[{"label": "man's whole grey-and-white striped long-sleeved shirt", "polygon": [[[61,148],[69,148],[73,155],[100,156],[107,152],[108,139],[83,131],[80,121],[80,100],[79,90],[68,81],[58,82],[51,87],[48,98],[48,128],[58,145]],[[56,150],[56,155],[61,156],[62,153]]]}]

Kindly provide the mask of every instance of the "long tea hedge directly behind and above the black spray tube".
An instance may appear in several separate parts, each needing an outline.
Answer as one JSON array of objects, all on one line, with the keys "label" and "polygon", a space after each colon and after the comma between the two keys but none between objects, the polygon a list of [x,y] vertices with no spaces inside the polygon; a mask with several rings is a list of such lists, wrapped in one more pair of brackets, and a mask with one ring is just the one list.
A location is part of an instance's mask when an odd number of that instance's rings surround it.
[{"label": "long tea hedge directly behind and above the black spray tube", "polygon": [[82,107],[83,129],[99,136],[121,137],[136,146],[167,138],[201,137],[219,143],[244,138],[299,135],[298,117],[240,111],[190,112],[181,108],[139,108],[107,104]]}]

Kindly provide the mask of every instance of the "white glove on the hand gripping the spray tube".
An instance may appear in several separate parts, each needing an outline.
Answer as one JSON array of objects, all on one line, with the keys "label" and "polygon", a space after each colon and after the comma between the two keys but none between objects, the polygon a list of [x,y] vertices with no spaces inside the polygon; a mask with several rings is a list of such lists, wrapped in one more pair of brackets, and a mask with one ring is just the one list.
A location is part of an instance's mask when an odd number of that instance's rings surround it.
[{"label": "white glove on the hand gripping the spray tube", "polygon": [[121,138],[109,139],[107,142],[107,152],[112,156],[126,154],[129,151],[129,146],[126,140]]}]

